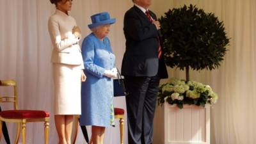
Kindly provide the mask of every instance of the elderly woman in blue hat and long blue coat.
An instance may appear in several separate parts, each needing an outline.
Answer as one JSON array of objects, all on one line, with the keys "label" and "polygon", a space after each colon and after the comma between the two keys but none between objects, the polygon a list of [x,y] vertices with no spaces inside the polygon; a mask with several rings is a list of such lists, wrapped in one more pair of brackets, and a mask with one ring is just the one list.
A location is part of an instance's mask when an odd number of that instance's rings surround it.
[{"label": "elderly woman in blue hat and long blue coat", "polygon": [[115,23],[108,12],[92,15],[92,33],[83,40],[82,55],[87,79],[81,89],[81,125],[92,125],[90,143],[102,144],[105,127],[114,124],[113,78],[117,76],[115,55],[108,39]]}]

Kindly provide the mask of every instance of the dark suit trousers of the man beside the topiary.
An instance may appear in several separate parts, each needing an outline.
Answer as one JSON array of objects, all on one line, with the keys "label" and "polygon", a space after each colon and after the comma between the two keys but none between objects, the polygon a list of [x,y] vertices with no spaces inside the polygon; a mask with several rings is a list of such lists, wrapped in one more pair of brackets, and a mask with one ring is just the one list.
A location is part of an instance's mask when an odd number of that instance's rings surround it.
[{"label": "dark suit trousers of the man beside the topiary", "polygon": [[152,144],[159,76],[125,76],[129,144]]}]

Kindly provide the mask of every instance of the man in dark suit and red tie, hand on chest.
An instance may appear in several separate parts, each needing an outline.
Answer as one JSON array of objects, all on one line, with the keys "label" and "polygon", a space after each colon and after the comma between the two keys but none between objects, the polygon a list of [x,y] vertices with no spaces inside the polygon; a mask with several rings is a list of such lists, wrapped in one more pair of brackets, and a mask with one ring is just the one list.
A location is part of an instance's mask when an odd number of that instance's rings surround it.
[{"label": "man in dark suit and red tie, hand on chest", "polygon": [[160,24],[148,10],[152,0],[133,0],[125,13],[126,50],[122,75],[127,88],[129,144],[152,144],[159,80],[167,78]]}]

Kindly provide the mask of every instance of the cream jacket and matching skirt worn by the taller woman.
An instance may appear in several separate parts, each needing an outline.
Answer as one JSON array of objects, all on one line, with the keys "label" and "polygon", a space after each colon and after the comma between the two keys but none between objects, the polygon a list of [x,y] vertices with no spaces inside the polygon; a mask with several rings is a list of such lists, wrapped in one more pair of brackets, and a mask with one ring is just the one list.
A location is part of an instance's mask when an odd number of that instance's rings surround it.
[{"label": "cream jacket and matching skirt worn by the taller woman", "polygon": [[79,39],[72,34],[76,20],[56,10],[48,28],[53,45],[55,115],[81,115],[81,70],[84,69]]}]

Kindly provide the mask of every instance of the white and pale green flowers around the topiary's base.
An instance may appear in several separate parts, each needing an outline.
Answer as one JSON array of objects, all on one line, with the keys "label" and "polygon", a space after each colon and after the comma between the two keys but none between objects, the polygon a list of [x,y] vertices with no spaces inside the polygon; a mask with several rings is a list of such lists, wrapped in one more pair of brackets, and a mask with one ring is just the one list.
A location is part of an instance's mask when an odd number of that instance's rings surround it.
[{"label": "white and pale green flowers around the topiary's base", "polygon": [[218,95],[212,92],[209,85],[195,81],[170,79],[168,83],[159,87],[158,104],[165,101],[169,104],[177,104],[182,109],[184,104],[195,104],[196,106],[205,106],[205,104],[215,104]]}]

